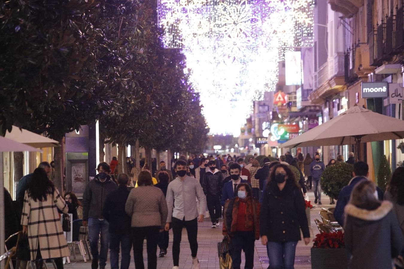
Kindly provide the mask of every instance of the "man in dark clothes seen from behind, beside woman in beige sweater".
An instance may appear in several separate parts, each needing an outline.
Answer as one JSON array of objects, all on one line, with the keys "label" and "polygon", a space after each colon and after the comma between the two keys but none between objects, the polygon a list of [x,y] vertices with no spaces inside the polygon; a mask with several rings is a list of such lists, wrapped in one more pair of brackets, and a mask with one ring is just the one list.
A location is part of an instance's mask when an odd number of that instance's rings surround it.
[{"label": "man in dark clothes seen from behind, beside woman in beige sweater", "polygon": [[[109,223],[109,254],[111,269],[128,269],[130,264],[130,217],[125,212],[129,177],[126,174],[118,176],[118,189],[110,192],[105,199],[103,216]],[[121,266],[119,267],[119,245],[122,250]]]}]

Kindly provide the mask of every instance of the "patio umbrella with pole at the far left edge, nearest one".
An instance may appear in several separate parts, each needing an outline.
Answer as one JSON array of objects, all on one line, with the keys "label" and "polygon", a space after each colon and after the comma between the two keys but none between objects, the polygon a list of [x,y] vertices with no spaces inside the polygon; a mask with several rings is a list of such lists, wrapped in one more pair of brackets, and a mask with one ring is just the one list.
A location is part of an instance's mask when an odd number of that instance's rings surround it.
[{"label": "patio umbrella with pole at the far left edge, nearest one", "polygon": [[[4,177],[3,152],[8,151],[40,151],[32,146],[24,145],[14,140],[0,136],[0,255],[4,253]],[[0,266],[2,267],[2,266]]]}]

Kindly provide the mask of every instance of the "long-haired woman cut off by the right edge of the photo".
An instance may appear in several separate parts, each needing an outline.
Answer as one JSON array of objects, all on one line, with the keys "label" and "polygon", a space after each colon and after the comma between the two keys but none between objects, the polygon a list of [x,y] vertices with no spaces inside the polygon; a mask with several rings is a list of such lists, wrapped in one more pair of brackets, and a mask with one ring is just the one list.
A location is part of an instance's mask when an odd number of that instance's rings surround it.
[{"label": "long-haired woman cut off by the right edge of the photo", "polygon": [[[404,167],[397,167],[394,171],[384,194],[384,198],[393,203],[393,209],[396,213],[398,224],[404,235]],[[403,257],[404,248],[401,250],[399,259],[395,261],[397,269],[404,268]]]}]

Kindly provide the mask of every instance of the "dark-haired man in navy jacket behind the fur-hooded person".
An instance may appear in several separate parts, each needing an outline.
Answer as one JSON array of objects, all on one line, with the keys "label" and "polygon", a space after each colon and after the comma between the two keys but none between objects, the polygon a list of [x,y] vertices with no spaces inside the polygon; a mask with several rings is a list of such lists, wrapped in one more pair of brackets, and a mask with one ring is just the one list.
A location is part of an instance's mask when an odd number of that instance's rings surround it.
[{"label": "dark-haired man in navy jacket behind the fur-hooded person", "polygon": [[[369,166],[367,163],[358,162],[353,165],[353,178],[349,181],[348,185],[342,188],[341,192],[339,192],[337,204],[334,209],[334,217],[338,221],[338,223],[343,227],[344,226],[344,218],[345,218],[345,206],[348,204],[349,199],[351,198],[351,193],[353,188],[362,180],[369,180]],[[379,200],[383,200],[383,191],[376,187],[375,196]]]}]

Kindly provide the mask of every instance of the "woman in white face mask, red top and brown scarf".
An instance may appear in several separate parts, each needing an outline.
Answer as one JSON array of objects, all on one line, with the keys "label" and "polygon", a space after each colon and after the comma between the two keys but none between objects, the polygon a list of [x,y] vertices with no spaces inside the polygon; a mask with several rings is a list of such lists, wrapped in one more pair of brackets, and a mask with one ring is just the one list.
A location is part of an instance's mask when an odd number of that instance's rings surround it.
[{"label": "woman in white face mask, red top and brown scarf", "polygon": [[254,242],[259,239],[260,204],[252,197],[249,184],[237,186],[237,197],[226,200],[223,214],[223,235],[230,237],[233,268],[239,269],[241,251],[245,254],[245,269],[254,268]]}]

